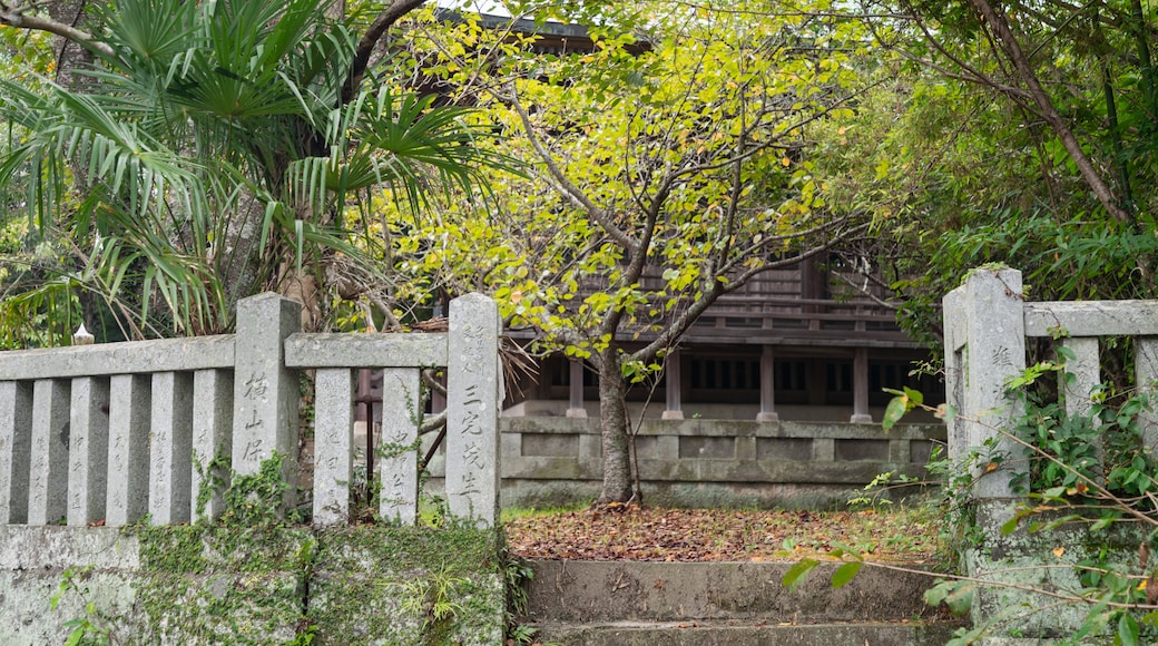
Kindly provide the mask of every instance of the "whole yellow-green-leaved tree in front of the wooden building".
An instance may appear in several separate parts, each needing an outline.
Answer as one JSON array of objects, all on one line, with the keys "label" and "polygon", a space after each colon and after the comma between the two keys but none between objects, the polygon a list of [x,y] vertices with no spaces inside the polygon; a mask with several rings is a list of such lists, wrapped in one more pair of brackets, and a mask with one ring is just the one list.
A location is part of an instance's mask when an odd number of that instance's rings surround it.
[{"label": "whole yellow-green-leaved tree in front of the wooden building", "polygon": [[593,47],[570,54],[470,16],[416,28],[406,74],[483,108],[526,174],[494,177],[497,210],[389,225],[402,291],[486,289],[536,351],[599,374],[603,502],[640,499],[630,386],[721,295],[867,232],[820,197],[811,159],[809,125],[849,118],[867,82],[867,34],[827,5],[580,5]]}]

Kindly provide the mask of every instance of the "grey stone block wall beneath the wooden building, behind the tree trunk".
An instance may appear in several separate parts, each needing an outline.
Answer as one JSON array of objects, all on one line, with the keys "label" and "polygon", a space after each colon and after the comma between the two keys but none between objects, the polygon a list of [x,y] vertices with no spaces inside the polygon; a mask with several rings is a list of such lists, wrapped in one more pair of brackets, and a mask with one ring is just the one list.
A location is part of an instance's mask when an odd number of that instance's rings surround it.
[{"label": "grey stone block wall beneath the wooden building, behind the tree trunk", "polygon": [[[582,502],[602,479],[598,419],[501,418],[504,507]],[[636,438],[647,504],[840,506],[878,475],[923,478],[940,424],[646,420]],[[435,478],[441,462],[432,463]],[[435,479],[434,484],[438,482]]]}]

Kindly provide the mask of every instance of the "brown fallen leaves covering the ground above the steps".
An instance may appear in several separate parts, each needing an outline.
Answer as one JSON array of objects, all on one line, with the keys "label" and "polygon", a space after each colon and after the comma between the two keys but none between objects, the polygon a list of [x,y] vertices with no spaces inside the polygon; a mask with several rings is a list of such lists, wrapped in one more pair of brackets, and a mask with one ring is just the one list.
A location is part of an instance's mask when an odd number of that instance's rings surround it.
[{"label": "brown fallen leaves covering the ground above the steps", "polygon": [[866,560],[915,564],[936,563],[940,545],[936,519],[906,509],[592,507],[516,515],[506,535],[516,557],[571,560],[794,561],[851,550]]}]

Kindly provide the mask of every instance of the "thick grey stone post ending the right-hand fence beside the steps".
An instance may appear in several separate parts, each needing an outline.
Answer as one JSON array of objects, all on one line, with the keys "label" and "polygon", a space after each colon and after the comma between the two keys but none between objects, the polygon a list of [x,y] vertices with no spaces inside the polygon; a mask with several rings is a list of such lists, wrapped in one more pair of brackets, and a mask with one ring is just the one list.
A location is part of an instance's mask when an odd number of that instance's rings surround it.
[{"label": "thick grey stone post ending the right-hand fence beside the steps", "polygon": [[975,476],[976,498],[1010,498],[1010,476],[1024,469],[1024,449],[998,430],[1009,430],[1017,416],[1005,397],[1005,382],[1025,372],[1025,311],[1021,272],[975,270],[945,296],[945,368],[950,402],[957,416],[948,424],[950,457],[967,454],[996,438],[994,450],[1004,463],[983,462]]}]

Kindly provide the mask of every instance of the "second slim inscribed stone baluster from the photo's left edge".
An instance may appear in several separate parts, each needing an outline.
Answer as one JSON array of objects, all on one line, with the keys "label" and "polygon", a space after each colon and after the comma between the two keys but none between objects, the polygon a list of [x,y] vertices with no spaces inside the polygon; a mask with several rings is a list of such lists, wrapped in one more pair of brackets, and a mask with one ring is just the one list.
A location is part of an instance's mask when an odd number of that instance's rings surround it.
[{"label": "second slim inscribed stone baluster from the photo's left edge", "polygon": [[28,523],[65,517],[68,493],[69,384],[38,380],[32,387],[32,450],[29,460]]}]

